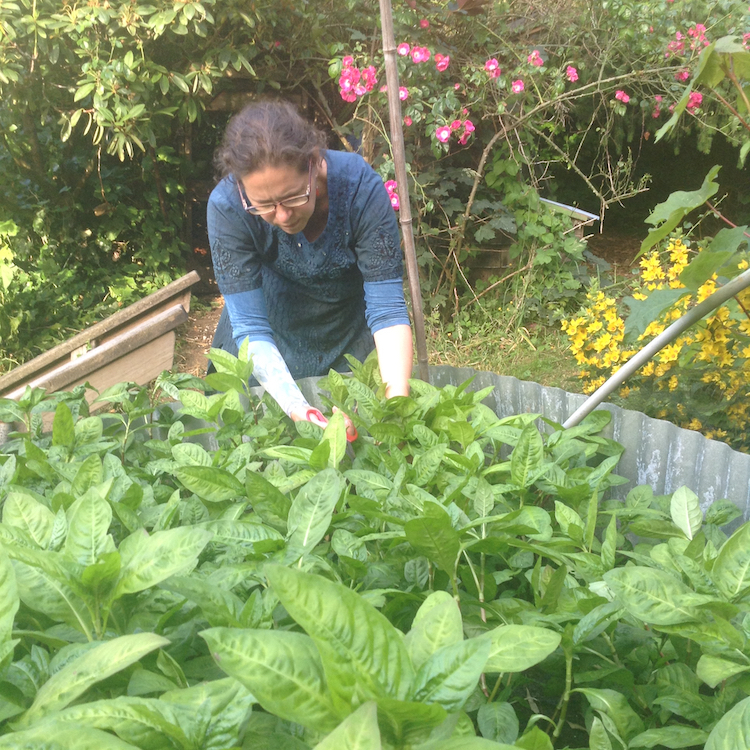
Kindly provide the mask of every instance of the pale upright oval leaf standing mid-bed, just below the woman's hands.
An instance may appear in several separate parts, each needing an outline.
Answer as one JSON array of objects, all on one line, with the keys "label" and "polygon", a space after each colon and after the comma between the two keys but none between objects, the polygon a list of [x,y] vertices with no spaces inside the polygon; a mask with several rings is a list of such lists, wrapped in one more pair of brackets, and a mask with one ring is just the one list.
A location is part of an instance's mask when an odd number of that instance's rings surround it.
[{"label": "pale upright oval leaf standing mid-bed, just below the woman's hands", "polygon": [[341,475],[329,468],[316,474],[297,493],[287,518],[290,547],[308,553],[320,542],[331,525],[342,489]]}]

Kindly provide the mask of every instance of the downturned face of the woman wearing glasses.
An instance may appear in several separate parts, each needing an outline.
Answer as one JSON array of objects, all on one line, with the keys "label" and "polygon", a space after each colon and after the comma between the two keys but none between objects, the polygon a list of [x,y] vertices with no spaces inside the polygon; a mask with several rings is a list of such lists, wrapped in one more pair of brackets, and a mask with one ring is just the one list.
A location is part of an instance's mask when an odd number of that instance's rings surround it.
[{"label": "downturned face of the woman wearing glasses", "polygon": [[[270,213],[261,218],[287,234],[301,232],[315,211],[315,180],[318,167],[312,161],[309,171],[298,172],[292,166],[268,166],[241,178],[242,187],[251,206],[275,204]],[[298,198],[309,192],[306,203],[294,208],[281,205],[282,201]]]}]

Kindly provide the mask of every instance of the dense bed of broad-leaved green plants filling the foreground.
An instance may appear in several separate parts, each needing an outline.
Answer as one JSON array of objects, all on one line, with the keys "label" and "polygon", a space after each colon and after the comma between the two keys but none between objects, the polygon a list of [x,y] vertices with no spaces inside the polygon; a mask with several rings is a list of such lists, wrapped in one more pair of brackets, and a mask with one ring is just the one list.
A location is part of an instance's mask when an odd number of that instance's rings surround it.
[{"label": "dense bed of broad-leaved green plants filling the foreground", "polygon": [[750,743],[750,524],[685,487],[613,499],[607,412],[384,400],[352,361],[321,381],[349,446],[212,354],[104,415],[0,402],[27,428],[0,458],[0,748]]}]

